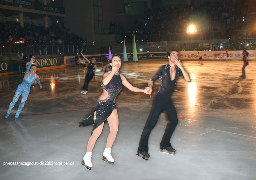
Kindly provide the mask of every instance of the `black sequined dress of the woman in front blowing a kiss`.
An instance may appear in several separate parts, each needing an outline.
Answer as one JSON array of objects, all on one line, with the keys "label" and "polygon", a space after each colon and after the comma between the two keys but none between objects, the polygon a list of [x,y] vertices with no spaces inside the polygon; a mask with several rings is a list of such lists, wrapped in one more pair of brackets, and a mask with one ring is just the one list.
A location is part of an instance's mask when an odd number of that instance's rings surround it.
[{"label": "black sequined dress of the woman in front blowing a kiss", "polygon": [[[118,93],[122,90],[122,79],[119,74],[115,74],[111,81],[104,86],[103,90],[107,91],[108,98],[98,99],[97,107],[93,111],[84,116],[83,122],[80,122],[83,126],[89,125],[93,121],[92,133],[99,127],[104,121],[108,119],[113,110],[116,109],[116,103],[114,102]],[[94,112],[96,116],[94,117]],[[91,133],[91,134],[92,134]]]}]

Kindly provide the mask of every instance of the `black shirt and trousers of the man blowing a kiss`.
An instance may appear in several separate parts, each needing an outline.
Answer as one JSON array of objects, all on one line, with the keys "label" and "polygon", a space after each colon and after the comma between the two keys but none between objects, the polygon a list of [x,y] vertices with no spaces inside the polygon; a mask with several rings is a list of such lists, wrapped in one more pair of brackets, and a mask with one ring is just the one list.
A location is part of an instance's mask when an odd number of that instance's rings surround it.
[{"label": "black shirt and trousers of the man blowing a kiss", "polygon": [[173,105],[172,99],[170,98],[172,91],[175,87],[175,84],[179,76],[183,77],[183,74],[180,68],[176,67],[175,78],[171,80],[170,76],[170,65],[166,64],[160,67],[158,73],[150,79],[152,82],[155,82],[159,78],[159,87],[156,93],[156,97],[153,101],[153,105],[148,116],[148,120],[144,126],[143,132],[140,137],[140,143],[138,151],[148,152],[148,138],[151,133],[151,130],[155,127],[160,113],[164,110],[168,116],[168,123],[164,132],[164,136],[160,143],[162,147],[171,147],[170,139],[172,133],[178,124],[178,118],[176,109]]}]

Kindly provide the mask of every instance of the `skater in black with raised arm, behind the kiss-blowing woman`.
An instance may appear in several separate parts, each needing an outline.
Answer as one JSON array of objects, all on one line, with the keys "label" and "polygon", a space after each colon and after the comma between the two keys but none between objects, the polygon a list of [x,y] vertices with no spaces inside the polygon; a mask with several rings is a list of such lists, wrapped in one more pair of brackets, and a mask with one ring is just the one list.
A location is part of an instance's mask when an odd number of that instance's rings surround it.
[{"label": "skater in black with raised arm, behind the kiss-blowing woman", "polygon": [[[94,81],[97,81],[96,73],[95,73],[96,69],[97,69],[97,66],[95,64],[96,63],[96,59],[93,57],[92,58],[92,62],[91,62],[89,59],[87,59],[84,56],[82,51],[80,53],[84,57],[84,59],[88,62],[88,67],[87,67],[87,73],[86,73],[86,76],[85,76],[85,79],[84,79],[84,86],[83,86],[83,89],[82,89],[82,91],[80,93],[86,94],[87,91],[88,91],[88,84],[92,80],[93,76],[94,76]],[[97,63],[103,64],[103,62],[97,62]]]}]

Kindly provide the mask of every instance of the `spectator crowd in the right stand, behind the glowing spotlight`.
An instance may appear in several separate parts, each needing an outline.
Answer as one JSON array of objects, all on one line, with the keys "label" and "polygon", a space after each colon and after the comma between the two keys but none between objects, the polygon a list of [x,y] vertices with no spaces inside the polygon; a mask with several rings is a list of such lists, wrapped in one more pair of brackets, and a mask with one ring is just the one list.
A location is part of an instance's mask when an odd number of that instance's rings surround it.
[{"label": "spectator crowd in the right stand, behind the glowing spotlight", "polygon": [[[163,41],[166,37],[170,37],[168,41],[178,40],[177,34],[182,34],[184,37],[190,24],[198,30],[195,39],[249,38],[250,35],[255,35],[253,23],[256,15],[249,15],[248,4],[244,1],[234,3],[215,0],[192,5],[178,4],[157,9],[149,8],[145,11],[145,16],[145,20],[135,21],[133,29],[123,32],[123,35],[129,36],[135,31],[136,35],[155,34],[158,41]],[[240,31],[248,29],[254,33]]]}]

